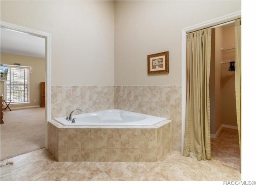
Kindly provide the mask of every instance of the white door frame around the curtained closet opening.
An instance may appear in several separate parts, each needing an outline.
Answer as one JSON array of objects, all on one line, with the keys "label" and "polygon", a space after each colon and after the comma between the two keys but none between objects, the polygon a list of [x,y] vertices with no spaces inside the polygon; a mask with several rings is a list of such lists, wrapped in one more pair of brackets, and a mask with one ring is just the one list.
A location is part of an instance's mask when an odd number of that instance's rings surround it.
[{"label": "white door frame around the curtained closet opening", "polygon": [[181,151],[184,148],[184,135],[185,135],[185,117],[186,117],[186,34],[223,24],[235,19],[241,18],[241,11],[233,12],[194,26],[182,28],[181,30]]}]

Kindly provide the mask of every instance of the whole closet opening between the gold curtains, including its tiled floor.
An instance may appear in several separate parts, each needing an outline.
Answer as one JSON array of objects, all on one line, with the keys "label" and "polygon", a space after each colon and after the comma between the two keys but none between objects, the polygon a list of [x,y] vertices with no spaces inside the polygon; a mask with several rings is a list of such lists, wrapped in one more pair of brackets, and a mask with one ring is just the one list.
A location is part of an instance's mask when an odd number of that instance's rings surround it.
[{"label": "whole closet opening between the gold curtains, including its tiled floor", "polygon": [[234,22],[212,28],[209,82],[211,159],[240,169],[236,117],[235,45]]}]

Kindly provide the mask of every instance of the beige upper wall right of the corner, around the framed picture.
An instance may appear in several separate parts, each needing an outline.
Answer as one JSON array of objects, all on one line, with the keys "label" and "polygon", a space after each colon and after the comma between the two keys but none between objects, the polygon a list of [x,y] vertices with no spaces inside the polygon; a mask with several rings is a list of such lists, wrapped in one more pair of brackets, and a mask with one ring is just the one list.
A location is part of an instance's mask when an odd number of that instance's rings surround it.
[{"label": "beige upper wall right of the corner, around the framed picture", "polygon": [[[115,85],[180,85],[181,29],[241,10],[241,1],[115,2]],[[169,51],[169,74],[147,55]]]}]

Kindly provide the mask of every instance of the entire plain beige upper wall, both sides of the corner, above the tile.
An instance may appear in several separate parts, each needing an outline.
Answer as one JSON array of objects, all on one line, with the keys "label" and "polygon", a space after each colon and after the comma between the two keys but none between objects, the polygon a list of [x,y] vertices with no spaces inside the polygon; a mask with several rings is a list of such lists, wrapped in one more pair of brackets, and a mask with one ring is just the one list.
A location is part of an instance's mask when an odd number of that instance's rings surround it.
[{"label": "entire plain beige upper wall, both sides of the corner, above the tile", "polygon": [[[52,35],[52,85],[180,85],[181,29],[239,10],[241,1],[1,1],[1,20]],[[169,74],[148,75],[147,55],[163,51]]]}]

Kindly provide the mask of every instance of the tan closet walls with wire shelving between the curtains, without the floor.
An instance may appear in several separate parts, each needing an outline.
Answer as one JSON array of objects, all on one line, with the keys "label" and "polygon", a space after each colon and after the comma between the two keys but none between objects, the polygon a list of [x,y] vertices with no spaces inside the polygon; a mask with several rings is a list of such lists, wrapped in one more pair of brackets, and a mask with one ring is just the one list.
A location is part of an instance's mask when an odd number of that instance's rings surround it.
[{"label": "tan closet walls with wire shelving between the curtains, without the floor", "polygon": [[[212,28],[210,68],[211,137],[223,127],[237,129],[234,22]],[[234,68],[233,68],[234,66]]]}]

